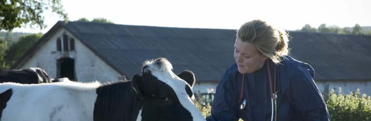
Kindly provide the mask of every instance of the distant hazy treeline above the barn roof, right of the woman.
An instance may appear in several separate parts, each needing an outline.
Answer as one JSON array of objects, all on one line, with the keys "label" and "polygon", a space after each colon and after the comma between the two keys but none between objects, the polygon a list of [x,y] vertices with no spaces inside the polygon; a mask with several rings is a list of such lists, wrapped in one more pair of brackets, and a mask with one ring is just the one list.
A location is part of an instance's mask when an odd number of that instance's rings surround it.
[{"label": "distant hazy treeline above the barn roof, right of the woman", "polygon": [[351,35],[371,35],[371,26],[360,26],[358,23],[353,27],[340,28],[337,25],[327,26],[321,24],[318,28],[311,27],[309,24],[303,26],[301,30],[305,32],[322,32],[322,33],[335,33],[335,34],[351,34]]}]

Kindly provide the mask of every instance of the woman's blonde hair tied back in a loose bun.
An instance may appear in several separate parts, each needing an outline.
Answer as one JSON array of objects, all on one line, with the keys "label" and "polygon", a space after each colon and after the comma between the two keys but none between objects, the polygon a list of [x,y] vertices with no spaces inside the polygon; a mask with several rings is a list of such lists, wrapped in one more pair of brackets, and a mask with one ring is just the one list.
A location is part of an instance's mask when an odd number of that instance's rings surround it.
[{"label": "woman's blonde hair tied back in a loose bun", "polygon": [[237,30],[237,38],[255,45],[258,51],[280,63],[282,57],[289,55],[289,33],[273,28],[263,20],[251,20]]}]

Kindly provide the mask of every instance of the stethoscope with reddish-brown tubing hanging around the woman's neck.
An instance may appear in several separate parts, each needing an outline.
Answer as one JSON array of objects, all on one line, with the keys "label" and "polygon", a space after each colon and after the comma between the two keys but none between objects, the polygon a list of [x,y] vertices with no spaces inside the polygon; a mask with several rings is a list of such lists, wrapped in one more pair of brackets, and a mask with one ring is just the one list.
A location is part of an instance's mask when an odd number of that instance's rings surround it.
[{"label": "stethoscope with reddish-brown tubing hanging around the woman's neck", "polygon": [[[273,112],[275,113],[274,121],[277,121],[277,88],[276,88],[276,74],[277,74],[277,65],[274,64],[274,88],[272,91],[272,78],[270,76],[270,68],[269,68],[269,63],[268,60],[266,61],[267,64],[267,70],[268,70],[268,79],[269,79],[269,90],[270,90],[270,101],[272,105],[272,114],[271,114],[271,120],[273,121]],[[242,85],[241,85],[241,94],[240,94],[240,99],[238,103],[240,104],[240,109],[244,109],[246,107],[246,99],[242,101],[243,95],[244,95],[244,86],[245,85],[245,74],[242,75]],[[274,92],[274,93],[273,93]],[[242,103],[241,103],[242,101]],[[274,102],[274,105],[273,105]],[[273,109],[274,107],[274,109]]]}]

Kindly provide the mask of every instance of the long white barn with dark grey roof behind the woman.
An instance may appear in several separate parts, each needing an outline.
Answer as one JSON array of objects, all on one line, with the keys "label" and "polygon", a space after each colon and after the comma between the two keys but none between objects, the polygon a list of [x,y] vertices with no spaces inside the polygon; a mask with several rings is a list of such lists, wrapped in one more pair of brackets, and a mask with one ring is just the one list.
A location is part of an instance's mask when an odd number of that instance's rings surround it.
[{"label": "long white barn with dark grey roof behind the woman", "polygon": [[[343,87],[371,94],[371,36],[289,32],[290,55],[309,63],[322,93]],[[195,73],[194,92],[213,93],[234,62],[235,30],[58,21],[12,68],[40,67],[51,78],[130,80],[143,61],[167,58]],[[369,85],[369,86],[368,86]],[[210,95],[212,96],[212,95]]]}]

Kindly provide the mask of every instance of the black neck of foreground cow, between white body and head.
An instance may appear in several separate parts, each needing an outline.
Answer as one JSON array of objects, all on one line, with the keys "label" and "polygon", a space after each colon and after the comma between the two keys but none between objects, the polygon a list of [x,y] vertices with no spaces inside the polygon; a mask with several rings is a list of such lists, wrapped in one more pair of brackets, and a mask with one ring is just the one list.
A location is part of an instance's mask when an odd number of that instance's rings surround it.
[{"label": "black neck of foreground cow, between white body and head", "polygon": [[134,121],[141,101],[133,95],[130,81],[116,82],[97,88],[94,121]]}]

